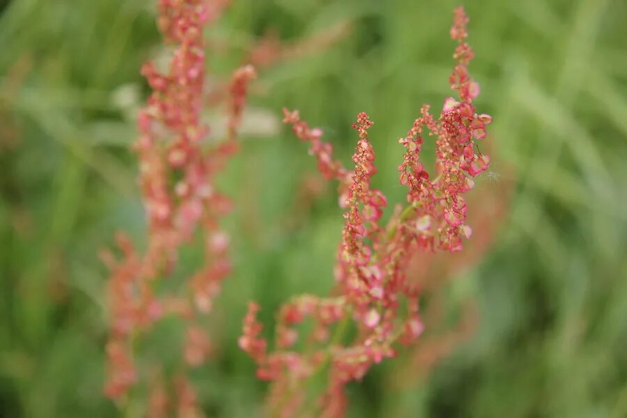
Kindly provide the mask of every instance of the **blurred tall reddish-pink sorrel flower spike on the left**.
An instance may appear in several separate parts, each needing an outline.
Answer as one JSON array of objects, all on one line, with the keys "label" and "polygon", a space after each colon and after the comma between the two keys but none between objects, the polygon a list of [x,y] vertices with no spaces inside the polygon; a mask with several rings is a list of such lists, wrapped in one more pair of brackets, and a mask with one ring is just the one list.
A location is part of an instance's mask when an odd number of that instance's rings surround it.
[{"label": "blurred tall reddish-pink sorrel flower spike on the left", "polygon": [[[148,62],[141,69],[153,93],[139,111],[139,158],[142,199],[148,218],[146,251],[140,254],[118,234],[121,261],[106,256],[111,269],[109,303],[111,334],[107,343],[109,376],[105,392],[122,400],[139,380],[134,350],[156,320],[173,314],[185,322],[181,369],[199,366],[210,353],[210,338],[201,323],[229,274],[229,235],[219,219],[231,208],[215,187],[215,176],[237,149],[237,130],[246,103],[247,86],[255,77],[245,66],[233,72],[227,112],[227,137],[208,144],[209,127],[202,121],[206,100],[203,29],[219,17],[224,0],[160,0],[158,26],[173,47],[167,70]],[[194,240],[203,246],[203,265],[181,282],[177,271],[180,248]],[[185,274],[186,275],[186,274]],[[172,284],[165,285],[165,281]],[[169,288],[169,291],[163,291]],[[173,290],[172,290],[173,289]],[[153,364],[152,374],[160,374]],[[166,385],[152,385],[150,414],[169,405]],[[184,372],[175,379],[171,408],[196,414],[196,395]],[[196,411],[196,412],[193,412]],[[163,411],[162,411],[163,412]],[[192,414],[193,412],[193,414]],[[181,412],[183,413],[183,412]],[[192,415],[190,415],[192,414]],[[167,415],[167,411],[162,415]]]}]

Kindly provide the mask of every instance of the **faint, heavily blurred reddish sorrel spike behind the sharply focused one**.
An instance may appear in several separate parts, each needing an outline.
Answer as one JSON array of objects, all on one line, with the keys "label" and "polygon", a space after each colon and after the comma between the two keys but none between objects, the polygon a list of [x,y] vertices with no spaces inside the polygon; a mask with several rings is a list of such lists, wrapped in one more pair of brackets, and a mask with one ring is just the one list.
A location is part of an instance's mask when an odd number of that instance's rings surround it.
[{"label": "faint, heavily blurred reddish sorrel spike behind the sharply focused one", "polygon": [[445,295],[451,279],[460,271],[472,268],[493,245],[497,230],[503,225],[508,213],[512,192],[513,182],[504,180],[482,183],[481,188],[469,197],[468,205],[473,207],[481,202],[481,210],[469,213],[475,232],[472,242],[464,245],[464,251],[441,251],[435,254],[421,251],[412,256],[407,268],[407,279],[416,282],[421,299],[428,301],[426,307],[421,309],[421,319],[428,332],[421,336],[415,346],[403,353],[394,371],[386,376],[385,386],[392,391],[407,390],[424,381],[441,359],[470,339],[477,330],[476,301],[472,297],[465,297],[458,309],[459,320],[451,323],[444,318],[448,312]]}]

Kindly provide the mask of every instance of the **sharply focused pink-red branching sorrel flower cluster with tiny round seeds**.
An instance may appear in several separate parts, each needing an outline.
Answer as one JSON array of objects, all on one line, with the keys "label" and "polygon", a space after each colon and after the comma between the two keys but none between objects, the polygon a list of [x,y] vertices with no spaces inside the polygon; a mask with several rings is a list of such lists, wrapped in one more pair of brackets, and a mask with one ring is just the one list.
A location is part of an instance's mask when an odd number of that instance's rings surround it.
[{"label": "sharply focused pink-red branching sorrel flower cluster with tiny round seeds", "polygon": [[[472,104],[479,85],[467,71],[473,57],[464,41],[467,22],[463,8],[454,10],[451,38],[458,46],[450,84],[458,99],[444,100],[437,118],[424,105],[421,116],[398,141],[405,148],[398,171],[401,185],[408,188],[408,204],[397,206],[385,226],[379,222],[387,199],[371,188],[376,155],[368,137],[373,125],[368,115],[359,114],[353,124],[359,139],[353,155],[355,169],[348,171],[333,159],[332,146],[321,141],[322,130],[310,128],[298,111],[284,110],[284,122],[309,143],[323,175],[339,180],[346,221],[334,296],[300,295],[286,302],[277,318],[274,351],[268,351],[260,336],[258,305],[249,305],[240,348],[258,363],[258,378],[272,381],[271,415],[293,417],[300,411],[311,417],[343,417],[345,385],[363,378],[373,364],[394,357],[399,343],[414,343],[423,331],[419,289],[407,279],[412,254],[460,251],[463,239],[470,238],[463,194],[474,187],[472,178],[488,168],[488,156],[475,150],[474,141],[486,136],[491,118],[477,114]],[[437,176],[426,171],[420,158],[429,137],[435,138]],[[313,327],[309,336],[302,337],[299,326],[307,318]],[[302,353],[295,349],[299,340],[305,347]],[[322,375],[327,376],[326,388],[312,398],[309,389]]]}]

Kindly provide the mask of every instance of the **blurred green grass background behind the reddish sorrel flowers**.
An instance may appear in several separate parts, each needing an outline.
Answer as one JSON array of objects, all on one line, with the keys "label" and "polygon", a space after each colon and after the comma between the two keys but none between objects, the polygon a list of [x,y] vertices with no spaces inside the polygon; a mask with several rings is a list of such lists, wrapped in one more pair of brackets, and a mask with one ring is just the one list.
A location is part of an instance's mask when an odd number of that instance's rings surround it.
[{"label": "blurred green grass background behind the reddish sorrel flowers", "polygon": [[[142,242],[130,144],[132,110],[148,93],[139,67],[159,52],[153,3],[0,1],[3,417],[118,415],[102,396],[98,250],[117,229]],[[299,45],[347,29],[262,68],[254,84],[256,122],[222,176],[236,210],[225,222],[235,273],[212,330],[221,349],[194,376],[208,415],[250,417],[261,403],[265,386],[234,349],[247,301],[271,323],[288,295],[332,286],[343,220],[335,187],[303,201],[315,162],[279,125],[281,107],[323,127],[346,164],[350,123],[368,111],[376,186],[402,201],[396,140],[423,102],[439,107],[450,94],[458,3],[235,0],[208,31],[212,74],[224,78],[268,31]],[[421,380],[394,384],[398,359],[350,385],[350,417],[627,417],[627,2],[465,7],[477,106],[495,119],[493,164],[477,189],[496,187],[507,210],[486,254],[442,277],[438,292],[444,321],[454,326],[473,301],[477,324],[450,355],[416,367]],[[469,211],[494,204],[476,199]]]}]

